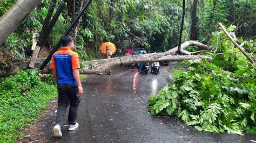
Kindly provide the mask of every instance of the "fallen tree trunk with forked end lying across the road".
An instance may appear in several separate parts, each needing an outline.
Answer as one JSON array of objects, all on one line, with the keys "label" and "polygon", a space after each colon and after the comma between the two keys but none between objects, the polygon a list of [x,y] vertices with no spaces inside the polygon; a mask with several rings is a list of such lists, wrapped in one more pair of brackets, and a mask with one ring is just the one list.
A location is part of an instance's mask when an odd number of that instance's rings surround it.
[{"label": "fallen tree trunk with forked end lying across the road", "polygon": [[[211,56],[203,56],[203,55],[190,55],[190,52],[185,51],[185,48],[188,46],[196,46],[200,50],[210,50],[211,47],[204,45],[197,41],[186,41],[181,44],[181,53],[185,55],[177,55],[178,47],[170,49],[164,53],[152,53],[152,54],[144,54],[144,55],[130,55],[130,56],[122,56],[120,58],[111,58],[111,59],[102,59],[102,60],[93,60],[93,61],[85,61],[80,62],[81,69],[80,74],[103,74],[105,71],[120,67],[131,65],[133,63],[141,63],[141,62],[163,62],[163,61],[184,61],[184,60],[192,60],[192,59],[207,59],[208,61],[212,61]],[[44,59],[38,59],[36,61],[36,66],[42,64]],[[25,67],[27,61],[16,62],[15,65],[19,69]],[[15,74],[17,70],[11,71],[9,75]],[[51,73],[50,64],[43,70],[43,73]],[[0,69],[0,76],[6,76],[5,69]]]}]

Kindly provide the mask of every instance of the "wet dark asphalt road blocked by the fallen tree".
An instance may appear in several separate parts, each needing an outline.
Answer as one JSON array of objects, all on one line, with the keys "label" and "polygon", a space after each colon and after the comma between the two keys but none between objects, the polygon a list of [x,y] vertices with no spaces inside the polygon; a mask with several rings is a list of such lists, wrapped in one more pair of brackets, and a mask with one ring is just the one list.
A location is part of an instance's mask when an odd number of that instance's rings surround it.
[{"label": "wet dark asphalt road blocked by the fallen tree", "polygon": [[[250,142],[255,134],[200,132],[174,117],[147,113],[147,99],[172,82],[170,66],[161,74],[142,74],[137,69],[120,67],[112,76],[90,75],[83,80],[84,95],[79,105],[79,127],[63,137],[52,137],[55,116],[48,118],[44,135],[49,142]],[[68,113],[66,113],[67,115]]]}]

